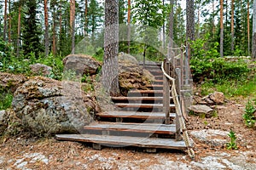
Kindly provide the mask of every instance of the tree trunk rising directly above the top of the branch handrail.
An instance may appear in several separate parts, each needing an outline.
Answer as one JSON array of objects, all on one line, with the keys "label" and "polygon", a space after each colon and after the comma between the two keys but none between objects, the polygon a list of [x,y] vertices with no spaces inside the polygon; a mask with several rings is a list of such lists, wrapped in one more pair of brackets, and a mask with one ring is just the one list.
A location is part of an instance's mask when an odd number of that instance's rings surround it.
[{"label": "tree trunk rising directly above the top of the branch handrail", "polygon": [[186,1],[187,29],[186,40],[195,40],[195,9],[194,0]]}]

